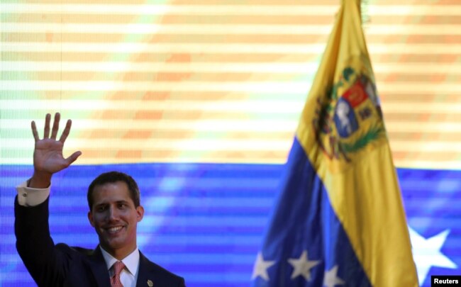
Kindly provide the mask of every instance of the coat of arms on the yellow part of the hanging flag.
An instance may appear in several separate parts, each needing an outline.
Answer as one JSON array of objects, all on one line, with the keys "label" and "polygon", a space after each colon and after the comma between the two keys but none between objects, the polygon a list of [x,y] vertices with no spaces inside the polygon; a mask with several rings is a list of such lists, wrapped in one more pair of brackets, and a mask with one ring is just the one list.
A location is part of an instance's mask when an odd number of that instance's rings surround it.
[{"label": "coat of arms on the yellow part of the hanging flag", "polygon": [[350,162],[367,145],[386,141],[374,79],[367,69],[360,70],[363,61],[362,57],[350,61],[330,94],[317,97],[312,128],[318,146],[330,159]]}]

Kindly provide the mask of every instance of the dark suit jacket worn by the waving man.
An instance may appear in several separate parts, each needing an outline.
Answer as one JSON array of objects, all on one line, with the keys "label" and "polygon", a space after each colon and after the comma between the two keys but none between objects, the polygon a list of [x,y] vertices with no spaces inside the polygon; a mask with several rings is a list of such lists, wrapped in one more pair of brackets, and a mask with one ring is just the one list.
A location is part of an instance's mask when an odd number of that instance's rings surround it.
[{"label": "dark suit jacket worn by the waving man", "polygon": [[[110,287],[101,249],[54,244],[48,226],[48,199],[38,206],[14,203],[16,249],[38,286]],[[151,284],[152,283],[152,284]],[[183,287],[184,278],[149,261],[140,253],[136,286]]]}]

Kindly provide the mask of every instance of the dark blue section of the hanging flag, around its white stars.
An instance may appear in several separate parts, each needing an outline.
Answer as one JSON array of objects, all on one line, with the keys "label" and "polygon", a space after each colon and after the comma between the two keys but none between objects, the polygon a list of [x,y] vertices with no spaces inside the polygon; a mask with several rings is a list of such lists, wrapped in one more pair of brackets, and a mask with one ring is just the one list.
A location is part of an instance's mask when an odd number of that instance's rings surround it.
[{"label": "dark blue section of the hanging flag, around its white stars", "polygon": [[[311,269],[311,280],[291,279],[288,259],[306,250],[309,260],[321,261]],[[270,280],[256,278],[255,286],[322,286],[324,272],[338,267],[345,286],[370,286],[347,235],[328,200],[321,179],[295,138],[282,177],[277,206],[265,236],[262,256],[276,261],[268,268]]]}]

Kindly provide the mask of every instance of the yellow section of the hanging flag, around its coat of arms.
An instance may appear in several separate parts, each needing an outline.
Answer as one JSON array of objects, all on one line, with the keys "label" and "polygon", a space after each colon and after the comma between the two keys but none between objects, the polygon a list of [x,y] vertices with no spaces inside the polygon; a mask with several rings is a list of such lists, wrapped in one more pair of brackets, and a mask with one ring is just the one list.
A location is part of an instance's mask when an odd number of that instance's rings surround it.
[{"label": "yellow section of the hanging flag, around its coat of arms", "polygon": [[[328,120],[338,116],[342,125],[345,122],[338,106],[337,112],[332,110],[340,101],[331,95],[331,86],[348,81],[347,77],[351,76],[343,74],[346,67],[373,79],[357,1],[343,0],[342,3],[296,135],[326,186],[333,210],[372,286],[418,286],[386,135],[348,152],[344,150],[348,142],[340,142],[338,138],[343,135],[338,127],[334,128],[333,120]],[[338,97],[343,95],[339,91]],[[343,91],[343,99],[347,91],[350,90]],[[358,99],[359,96],[354,95]],[[371,101],[368,99],[371,96],[367,91],[367,101]],[[371,113],[371,122],[370,118],[360,122],[362,127],[358,132],[382,126],[382,119],[376,112]],[[349,120],[347,124],[350,126]],[[338,141],[337,147],[334,143]]]}]

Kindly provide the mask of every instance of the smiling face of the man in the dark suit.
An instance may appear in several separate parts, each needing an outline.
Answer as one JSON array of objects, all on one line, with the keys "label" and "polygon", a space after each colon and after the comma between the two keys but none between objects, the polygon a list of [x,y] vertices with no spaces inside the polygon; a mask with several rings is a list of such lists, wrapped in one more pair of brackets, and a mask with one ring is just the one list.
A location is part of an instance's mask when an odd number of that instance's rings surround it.
[{"label": "smiling face of the man in the dark suit", "polygon": [[88,219],[99,244],[113,257],[123,259],[136,248],[136,225],[143,219],[144,208],[135,208],[123,181],[94,186],[93,199]]}]

